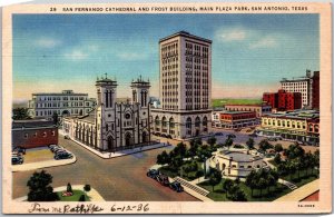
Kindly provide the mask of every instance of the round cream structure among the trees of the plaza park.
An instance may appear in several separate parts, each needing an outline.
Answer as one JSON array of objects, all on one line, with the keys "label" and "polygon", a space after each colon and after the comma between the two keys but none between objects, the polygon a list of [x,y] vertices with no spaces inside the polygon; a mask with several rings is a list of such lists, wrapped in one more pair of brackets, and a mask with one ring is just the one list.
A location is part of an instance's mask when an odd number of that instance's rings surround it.
[{"label": "round cream structure among the trees of the plaza park", "polygon": [[217,150],[209,159],[213,168],[229,177],[246,177],[254,169],[267,167],[263,158],[249,151]]}]

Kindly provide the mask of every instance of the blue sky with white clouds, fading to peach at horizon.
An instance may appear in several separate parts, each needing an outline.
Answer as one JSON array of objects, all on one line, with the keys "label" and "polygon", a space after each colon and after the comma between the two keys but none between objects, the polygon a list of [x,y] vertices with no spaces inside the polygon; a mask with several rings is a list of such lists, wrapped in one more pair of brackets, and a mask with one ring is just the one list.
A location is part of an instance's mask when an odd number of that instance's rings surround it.
[{"label": "blue sky with white clouds, fading to peach at horizon", "polygon": [[141,75],[158,97],[158,41],[185,30],[213,40],[213,98],[259,98],[282,78],[320,70],[318,14],[14,14],[13,99],[72,89],[96,97],[97,77],[118,97]]}]

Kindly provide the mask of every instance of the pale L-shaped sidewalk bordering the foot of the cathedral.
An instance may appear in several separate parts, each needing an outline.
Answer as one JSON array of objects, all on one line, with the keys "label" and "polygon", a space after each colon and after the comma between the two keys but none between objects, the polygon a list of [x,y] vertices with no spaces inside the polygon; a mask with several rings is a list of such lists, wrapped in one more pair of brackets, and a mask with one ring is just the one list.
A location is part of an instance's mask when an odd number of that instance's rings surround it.
[{"label": "pale L-shaped sidewalk bordering the foot of the cathedral", "polygon": [[96,150],[96,149],[78,141],[78,140],[75,140],[75,139],[71,139],[71,140],[75,141],[76,144],[80,145],[81,147],[86,148],[87,150],[94,152],[95,155],[104,158],[104,159],[121,157],[121,156],[125,156],[125,155],[131,155],[131,154],[141,152],[141,151],[145,151],[145,150],[157,149],[157,148],[161,148],[161,147],[168,147],[165,144],[154,144],[154,145],[150,145],[150,146],[143,146],[143,147],[137,147],[137,148],[134,148],[134,149],[126,149],[126,150],[116,151],[116,152],[107,152],[107,151],[101,152],[99,150]]}]

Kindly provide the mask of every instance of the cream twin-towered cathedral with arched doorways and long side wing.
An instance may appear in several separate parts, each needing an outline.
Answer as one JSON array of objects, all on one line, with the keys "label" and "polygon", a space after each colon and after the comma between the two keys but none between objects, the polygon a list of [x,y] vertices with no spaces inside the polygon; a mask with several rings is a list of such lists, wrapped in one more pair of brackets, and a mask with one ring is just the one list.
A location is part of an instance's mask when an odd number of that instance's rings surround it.
[{"label": "cream twin-towered cathedral with arched doorways and long side wing", "polygon": [[97,106],[85,116],[63,118],[65,134],[100,151],[115,152],[150,142],[149,81],[131,82],[131,100],[116,102],[117,81],[98,78]]}]

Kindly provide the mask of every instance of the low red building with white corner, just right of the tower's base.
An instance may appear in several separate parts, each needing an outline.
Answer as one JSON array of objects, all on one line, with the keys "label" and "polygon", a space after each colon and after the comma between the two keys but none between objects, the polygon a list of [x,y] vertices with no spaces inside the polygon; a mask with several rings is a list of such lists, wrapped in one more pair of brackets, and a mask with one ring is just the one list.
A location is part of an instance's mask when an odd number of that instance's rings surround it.
[{"label": "low red building with white corner, just right of the tower's base", "polygon": [[212,118],[216,128],[238,129],[259,125],[255,111],[215,111]]}]

